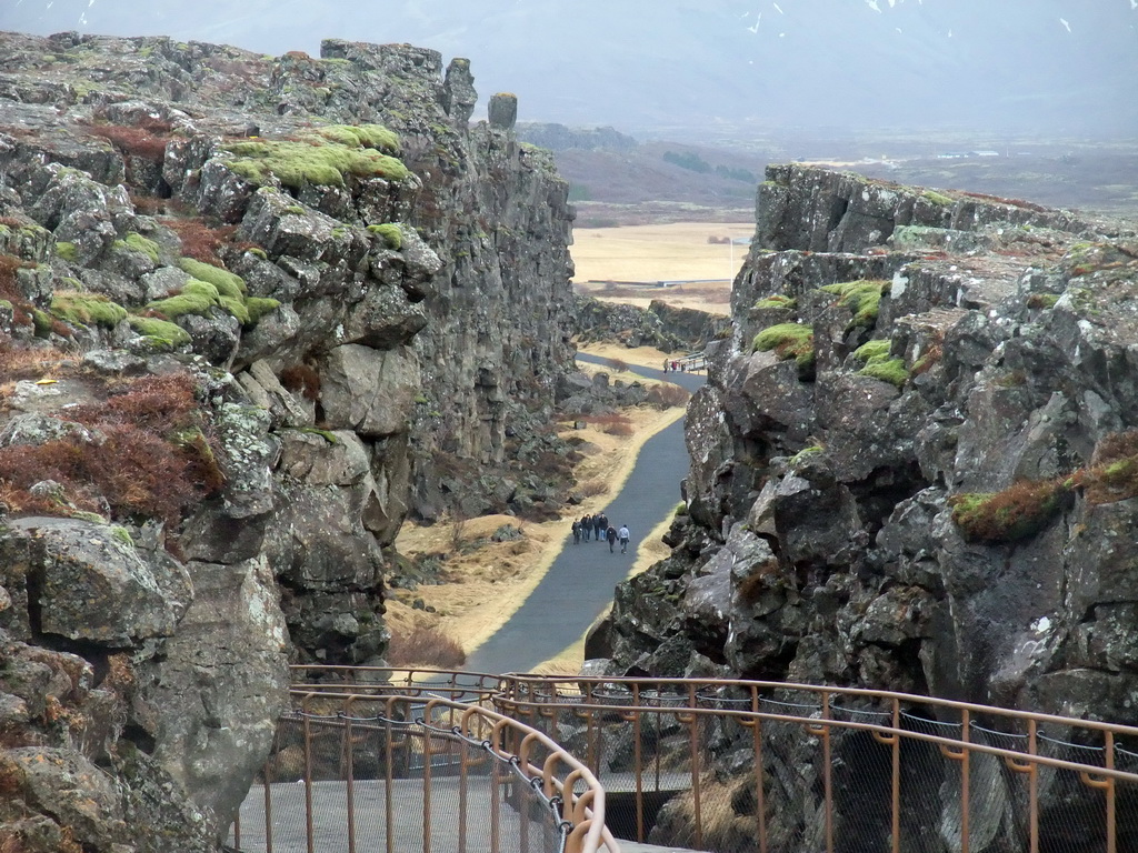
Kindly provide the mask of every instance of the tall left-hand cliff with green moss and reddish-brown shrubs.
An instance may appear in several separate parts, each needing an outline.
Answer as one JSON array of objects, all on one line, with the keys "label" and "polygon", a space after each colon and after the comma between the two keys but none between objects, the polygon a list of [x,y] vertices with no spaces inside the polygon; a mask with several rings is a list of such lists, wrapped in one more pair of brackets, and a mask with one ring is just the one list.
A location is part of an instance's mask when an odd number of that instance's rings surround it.
[{"label": "tall left-hand cliff with green moss and reddish-brown shrubs", "polygon": [[0,822],[211,850],[288,660],[381,660],[409,512],[547,495],[566,187],[429,50],[0,57]]}]

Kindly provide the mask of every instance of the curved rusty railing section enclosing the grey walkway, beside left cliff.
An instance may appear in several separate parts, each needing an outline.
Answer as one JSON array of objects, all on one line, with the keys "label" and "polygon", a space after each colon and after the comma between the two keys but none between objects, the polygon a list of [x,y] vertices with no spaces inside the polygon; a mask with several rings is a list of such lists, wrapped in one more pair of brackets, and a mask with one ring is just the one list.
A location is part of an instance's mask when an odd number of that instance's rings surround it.
[{"label": "curved rusty railing section enclosing the grey walkway, beside left cliff", "polygon": [[374,670],[353,673],[365,676],[355,684],[343,671],[297,674],[318,682],[292,689],[234,847],[618,853],[588,768],[486,707],[480,682],[434,671],[426,682],[413,673],[411,688],[379,684]]}]

